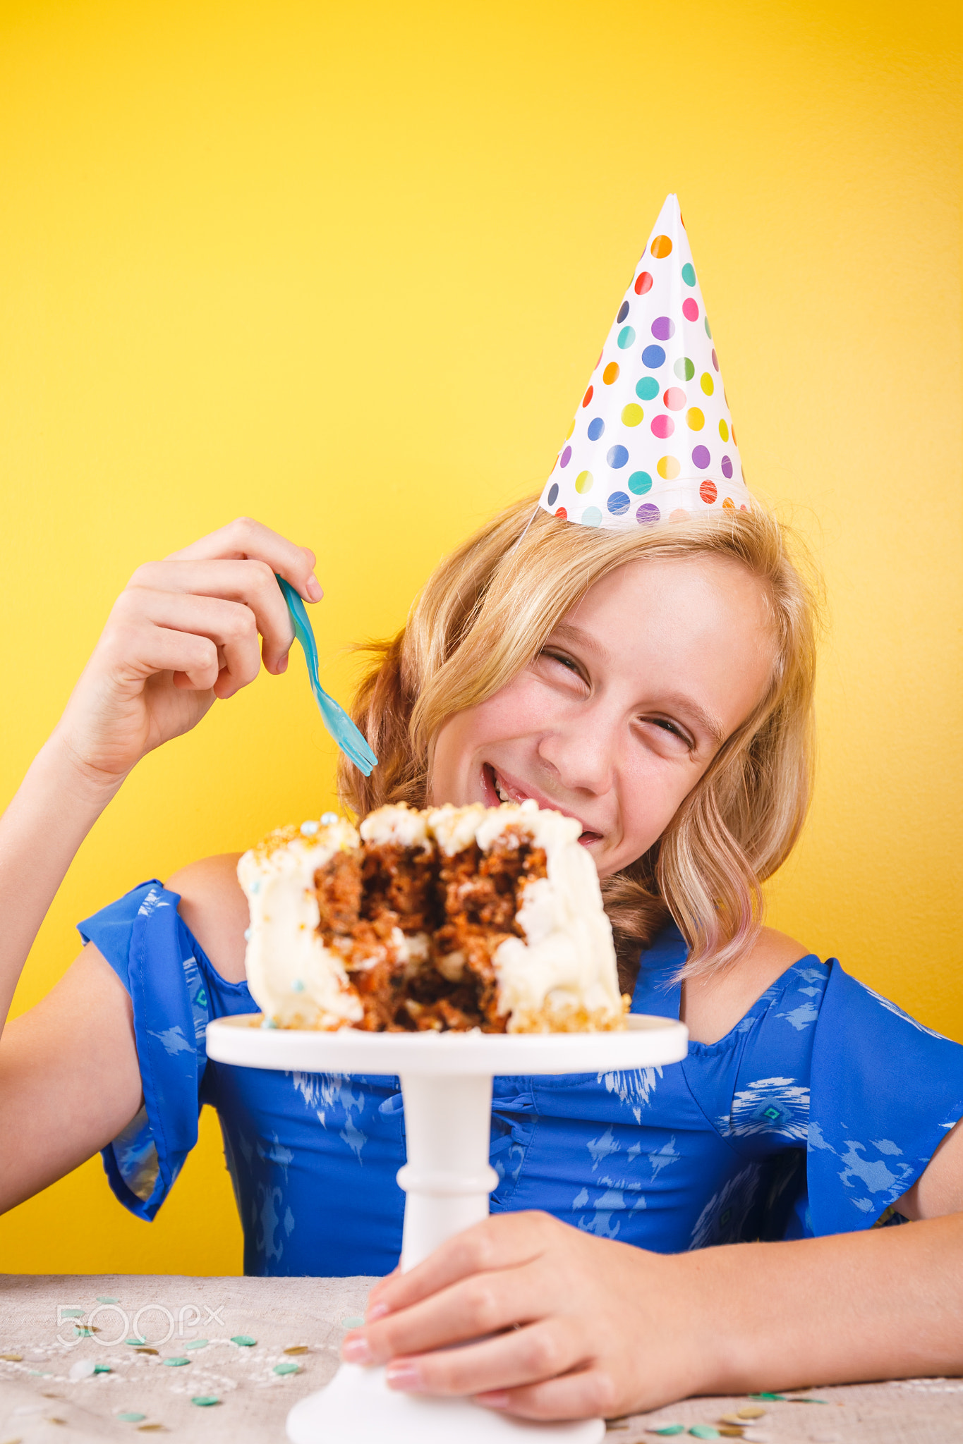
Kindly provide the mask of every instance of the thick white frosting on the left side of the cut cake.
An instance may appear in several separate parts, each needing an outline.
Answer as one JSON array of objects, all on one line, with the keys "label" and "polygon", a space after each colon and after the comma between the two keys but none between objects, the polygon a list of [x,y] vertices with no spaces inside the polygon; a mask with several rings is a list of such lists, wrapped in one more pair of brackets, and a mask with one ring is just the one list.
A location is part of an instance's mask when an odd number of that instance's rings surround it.
[{"label": "thick white frosting on the left side of the cut cake", "polygon": [[364,1009],[338,953],[318,936],[315,872],[358,846],[351,823],[286,829],[244,853],[237,875],[251,913],[247,985],[266,1018],[283,1025],[341,1028]]}]

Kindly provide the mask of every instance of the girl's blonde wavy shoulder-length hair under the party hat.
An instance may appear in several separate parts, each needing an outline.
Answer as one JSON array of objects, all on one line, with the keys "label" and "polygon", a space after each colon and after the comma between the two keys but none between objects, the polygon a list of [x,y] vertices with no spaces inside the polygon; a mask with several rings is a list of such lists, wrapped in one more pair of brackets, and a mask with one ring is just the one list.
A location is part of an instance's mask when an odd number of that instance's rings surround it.
[{"label": "girl's blonde wavy shoulder-length hair under the party hat", "polygon": [[[761,885],[796,843],[811,794],[819,586],[790,556],[768,511],[723,511],[632,531],[572,526],[534,498],[485,523],[436,567],[407,625],[361,648],[372,663],[352,716],[380,761],[371,777],[341,760],[342,801],[360,816],[427,801],[432,741],[541,650],[601,578],[627,562],[713,556],[762,583],[775,638],[765,696],[719,748],[655,846],[602,884],[624,986],[641,947],[671,915],[689,944],[684,976],[738,962],[762,917]],[[798,547],[796,546],[798,552]]]}]

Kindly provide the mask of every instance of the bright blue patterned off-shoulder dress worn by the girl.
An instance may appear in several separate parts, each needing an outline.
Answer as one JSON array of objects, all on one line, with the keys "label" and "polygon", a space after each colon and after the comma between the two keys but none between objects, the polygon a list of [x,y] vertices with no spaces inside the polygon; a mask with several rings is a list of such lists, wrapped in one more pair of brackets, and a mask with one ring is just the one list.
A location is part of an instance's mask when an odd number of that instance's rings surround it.
[{"label": "bright blue patterned off-shoulder dress worn by the girl", "polygon": [[[387,1274],[404,1206],[398,1080],[208,1060],[208,1021],[257,1006],[205,957],[178,902],[144,882],[79,924],[131,996],[144,1087],[104,1149],[114,1193],[153,1219],[211,1103],[245,1274]],[[679,1017],[684,957],[666,928],[642,954],[632,1012]],[[963,1047],[809,956],[683,1063],[495,1079],[491,1209],[544,1209],[663,1253],[866,1229],[962,1115]]]}]

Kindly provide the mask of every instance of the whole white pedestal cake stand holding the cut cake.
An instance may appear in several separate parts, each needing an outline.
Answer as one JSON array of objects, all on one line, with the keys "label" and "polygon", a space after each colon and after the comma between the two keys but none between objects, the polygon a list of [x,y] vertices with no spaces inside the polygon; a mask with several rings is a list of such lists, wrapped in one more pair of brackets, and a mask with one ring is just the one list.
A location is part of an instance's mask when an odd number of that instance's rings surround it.
[{"label": "whole white pedestal cake stand holding the cut cake", "polygon": [[[631,1014],[625,1032],[310,1032],[260,1017],[208,1024],[208,1057],[248,1069],[397,1074],[404,1099],[407,1197],[401,1269],[488,1214],[491,1080],[502,1074],[611,1073],[677,1063],[681,1022]],[[598,1444],[602,1419],[533,1424],[469,1399],[388,1389],[384,1369],[342,1363],[287,1415],[293,1444]]]}]

